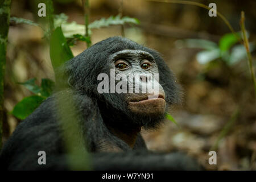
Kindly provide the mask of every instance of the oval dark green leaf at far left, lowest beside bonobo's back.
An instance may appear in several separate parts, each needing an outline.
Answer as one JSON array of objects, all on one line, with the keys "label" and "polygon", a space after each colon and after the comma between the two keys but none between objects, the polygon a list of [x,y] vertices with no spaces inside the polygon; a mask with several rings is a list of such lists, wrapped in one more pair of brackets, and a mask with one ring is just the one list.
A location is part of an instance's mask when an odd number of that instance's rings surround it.
[{"label": "oval dark green leaf at far left, lowest beside bonobo's back", "polygon": [[15,105],[11,113],[16,118],[25,119],[44,101],[44,99],[45,98],[41,96],[25,97],[22,101]]}]

